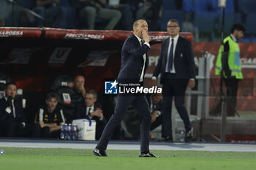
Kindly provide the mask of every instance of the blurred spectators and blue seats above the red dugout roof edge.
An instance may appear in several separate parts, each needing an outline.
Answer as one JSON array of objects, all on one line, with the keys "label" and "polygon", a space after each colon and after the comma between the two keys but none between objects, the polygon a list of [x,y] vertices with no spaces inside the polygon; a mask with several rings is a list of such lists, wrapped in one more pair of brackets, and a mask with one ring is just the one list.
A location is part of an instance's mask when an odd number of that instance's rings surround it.
[{"label": "blurred spectators and blue seats above the red dugout roof edge", "polygon": [[[227,0],[225,34],[243,23],[240,42],[256,42],[255,7],[253,0]],[[166,31],[175,18],[195,42],[214,42],[221,40],[222,8],[218,0],[0,0],[0,18],[0,26],[129,31],[137,19],[146,20],[149,31]]]}]

